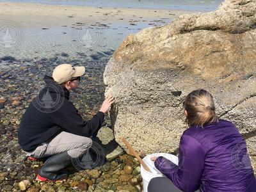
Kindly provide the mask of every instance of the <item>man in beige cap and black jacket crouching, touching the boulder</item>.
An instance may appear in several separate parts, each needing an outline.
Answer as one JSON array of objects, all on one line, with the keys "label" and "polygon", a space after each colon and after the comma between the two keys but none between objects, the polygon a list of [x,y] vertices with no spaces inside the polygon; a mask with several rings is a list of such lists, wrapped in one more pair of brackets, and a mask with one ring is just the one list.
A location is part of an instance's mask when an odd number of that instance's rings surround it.
[{"label": "man in beige cap and black jacket crouching, touching the boulder", "polygon": [[38,180],[60,180],[68,176],[65,167],[92,147],[90,136],[99,131],[104,114],[114,102],[108,97],[99,112],[84,121],[69,101],[70,90],[79,86],[84,67],[61,64],[52,77],[44,76],[45,87],[29,104],[19,127],[19,144],[27,156],[50,156],[40,169]]}]

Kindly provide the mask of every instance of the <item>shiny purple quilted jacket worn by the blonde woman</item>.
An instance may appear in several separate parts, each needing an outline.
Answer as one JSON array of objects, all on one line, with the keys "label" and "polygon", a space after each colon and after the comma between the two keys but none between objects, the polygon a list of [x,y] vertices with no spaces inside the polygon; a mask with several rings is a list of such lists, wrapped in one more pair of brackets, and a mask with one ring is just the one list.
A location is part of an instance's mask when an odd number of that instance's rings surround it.
[{"label": "shiny purple quilted jacket worn by the blonde woman", "polygon": [[182,191],[256,191],[246,142],[227,120],[191,126],[183,132],[179,166],[157,157],[156,168]]}]

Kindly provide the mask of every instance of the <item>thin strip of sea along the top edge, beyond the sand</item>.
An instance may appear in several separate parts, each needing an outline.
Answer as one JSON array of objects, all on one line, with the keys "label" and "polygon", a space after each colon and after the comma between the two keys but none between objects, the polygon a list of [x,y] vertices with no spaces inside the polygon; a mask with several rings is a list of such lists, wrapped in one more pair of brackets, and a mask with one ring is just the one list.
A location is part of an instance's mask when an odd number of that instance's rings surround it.
[{"label": "thin strip of sea along the top edge, beyond the sand", "polygon": [[[6,2],[0,0],[0,2]],[[7,2],[26,2],[44,4],[70,4],[79,6],[110,6],[122,8],[148,8],[163,10],[211,11],[216,9],[223,0],[9,0]]]}]

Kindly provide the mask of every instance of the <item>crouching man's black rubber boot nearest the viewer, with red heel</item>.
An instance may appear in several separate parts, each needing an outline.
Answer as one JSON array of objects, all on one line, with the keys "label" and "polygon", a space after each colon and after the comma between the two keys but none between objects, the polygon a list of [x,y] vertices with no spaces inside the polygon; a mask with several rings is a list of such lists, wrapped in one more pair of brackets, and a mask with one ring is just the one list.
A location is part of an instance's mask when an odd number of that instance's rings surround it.
[{"label": "crouching man's black rubber boot nearest the viewer, with red heel", "polygon": [[36,179],[38,180],[61,180],[68,176],[68,172],[63,170],[71,163],[71,157],[67,152],[55,154],[47,159],[40,169]]}]

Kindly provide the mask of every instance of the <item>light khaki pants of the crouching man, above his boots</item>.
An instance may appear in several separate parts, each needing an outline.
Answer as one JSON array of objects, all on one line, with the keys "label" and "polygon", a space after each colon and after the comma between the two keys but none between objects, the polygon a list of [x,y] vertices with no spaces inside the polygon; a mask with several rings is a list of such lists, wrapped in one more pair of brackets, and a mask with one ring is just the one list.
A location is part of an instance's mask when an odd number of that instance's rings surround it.
[{"label": "light khaki pants of the crouching man, above his boots", "polygon": [[84,154],[90,147],[92,147],[91,138],[63,131],[48,143],[42,143],[36,147],[32,152],[24,152],[27,156],[44,157],[67,151],[70,157],[76,158]]}]

